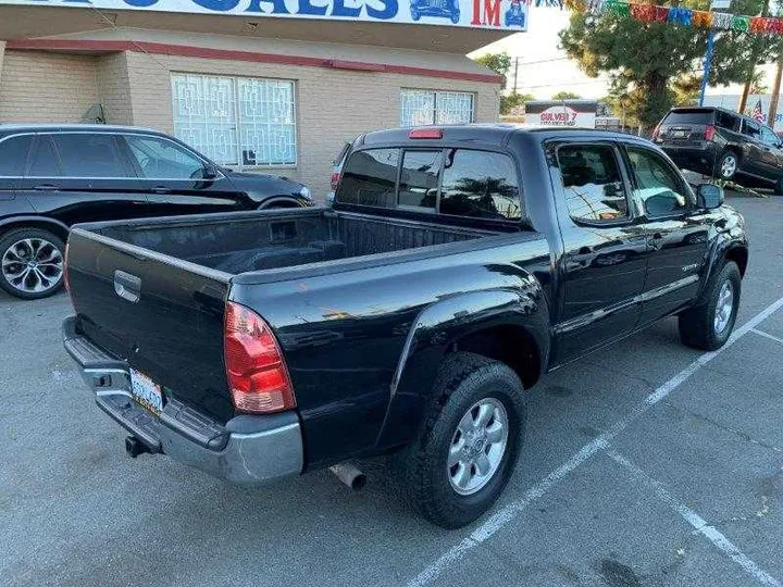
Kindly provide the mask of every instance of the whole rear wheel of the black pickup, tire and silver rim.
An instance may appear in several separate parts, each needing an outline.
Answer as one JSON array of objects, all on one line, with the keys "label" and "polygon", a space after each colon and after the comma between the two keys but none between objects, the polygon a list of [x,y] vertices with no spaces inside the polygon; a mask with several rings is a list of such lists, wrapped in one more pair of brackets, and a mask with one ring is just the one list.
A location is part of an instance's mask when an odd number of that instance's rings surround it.
[{"label": "whole rear wheel of the black pickup, tire and silver rim", "polygon": [[524,389],[508,365],[472,353],[450,355],[423,430],[405,454],[413,505],[445,528],[476,520],[513,473],[524,423]]}]

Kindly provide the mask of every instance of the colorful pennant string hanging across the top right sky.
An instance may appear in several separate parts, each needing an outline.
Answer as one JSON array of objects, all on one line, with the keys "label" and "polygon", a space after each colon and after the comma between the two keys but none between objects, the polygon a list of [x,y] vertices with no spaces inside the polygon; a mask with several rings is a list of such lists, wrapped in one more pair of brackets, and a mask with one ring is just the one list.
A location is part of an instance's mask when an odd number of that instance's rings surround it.
[{"label": "colorful pennant string hanging across the top right sky", "polygon": [[624,0],[526,0],[536,7],[558,7],[574,12],[614,14],[643,23],[670,23],[699,28],[719,28],[756,35],[783,35],[783,18],[771,16],[742,16],[725,12],[707,12],[683,7],[659,7]]}]

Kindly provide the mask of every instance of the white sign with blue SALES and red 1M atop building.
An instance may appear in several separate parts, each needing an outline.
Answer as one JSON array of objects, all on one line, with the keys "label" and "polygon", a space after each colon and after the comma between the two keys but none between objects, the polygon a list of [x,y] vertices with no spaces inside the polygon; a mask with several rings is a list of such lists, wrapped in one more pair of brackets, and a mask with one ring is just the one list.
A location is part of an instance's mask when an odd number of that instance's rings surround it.
[{"label": "white sign with blue SALES and red 1M atop building", "polygon": [[527,5],[522,0],[0,0],[0,4],[527,28]]}]

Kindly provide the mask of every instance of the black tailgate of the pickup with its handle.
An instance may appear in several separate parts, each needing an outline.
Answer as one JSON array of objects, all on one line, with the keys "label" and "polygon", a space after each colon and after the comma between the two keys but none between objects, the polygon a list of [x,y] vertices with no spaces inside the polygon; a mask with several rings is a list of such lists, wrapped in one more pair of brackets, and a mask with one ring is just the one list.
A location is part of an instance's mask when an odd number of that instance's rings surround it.
[{"label": "black tailgate of the pickup with its handle", "polygon": [[223,423],[232,417],[223,363],[228,274],[76,227],[67,276],[77,332],[166,397]]}]

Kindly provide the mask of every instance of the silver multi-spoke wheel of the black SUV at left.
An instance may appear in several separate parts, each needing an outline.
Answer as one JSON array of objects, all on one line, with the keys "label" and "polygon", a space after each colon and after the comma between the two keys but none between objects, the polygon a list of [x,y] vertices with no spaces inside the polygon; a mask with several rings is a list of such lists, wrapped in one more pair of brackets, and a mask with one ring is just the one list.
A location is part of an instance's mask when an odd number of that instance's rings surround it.
[{"label": "silver multi-spoke wheel of the black SUV at left", "polygon": [[0,238],[0,287],[24,299],[46,298],[63,283],[65,245],[39,228],[17,228]]}]

